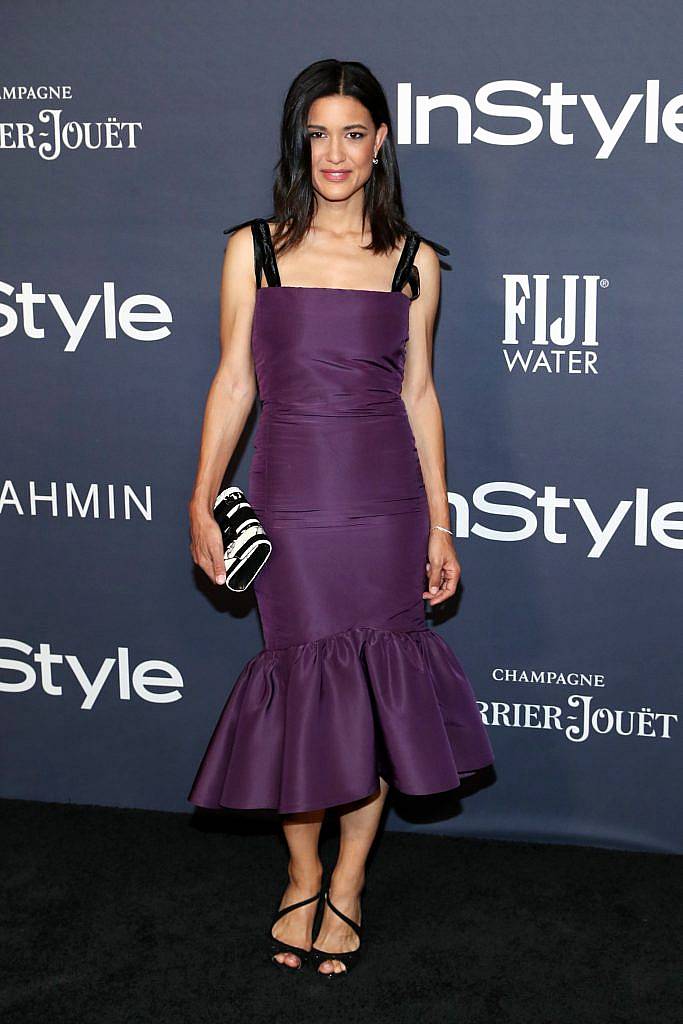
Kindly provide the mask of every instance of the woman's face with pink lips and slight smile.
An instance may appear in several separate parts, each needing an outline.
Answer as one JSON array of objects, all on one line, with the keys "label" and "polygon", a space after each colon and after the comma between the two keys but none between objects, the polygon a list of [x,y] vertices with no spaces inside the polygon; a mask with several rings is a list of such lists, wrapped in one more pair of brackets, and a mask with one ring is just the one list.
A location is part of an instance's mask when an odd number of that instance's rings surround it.
[{"label": "woman's face with pink lips and slight smile", "polygon": [[313,188],[326,200],[339,202],[362,188],[388,129],[385,124],[376,129],[358,99],[323,96],[310,105],[306,130]]}]

